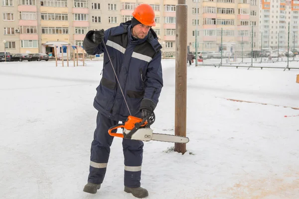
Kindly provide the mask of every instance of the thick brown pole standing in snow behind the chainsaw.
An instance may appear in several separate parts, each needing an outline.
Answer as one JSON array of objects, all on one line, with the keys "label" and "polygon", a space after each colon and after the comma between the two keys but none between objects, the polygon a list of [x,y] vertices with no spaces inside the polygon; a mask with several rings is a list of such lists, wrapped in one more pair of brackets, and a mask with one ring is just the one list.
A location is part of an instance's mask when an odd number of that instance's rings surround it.
[{"label": "thick brown pole standing in snow behind the chainsaw", "polygon": [[[175,135],[186,137],[187,117],[187,10],[186,0],[176,5],[175,38]],[[184,154],[186,144],[175,143],[174,151]]]}]

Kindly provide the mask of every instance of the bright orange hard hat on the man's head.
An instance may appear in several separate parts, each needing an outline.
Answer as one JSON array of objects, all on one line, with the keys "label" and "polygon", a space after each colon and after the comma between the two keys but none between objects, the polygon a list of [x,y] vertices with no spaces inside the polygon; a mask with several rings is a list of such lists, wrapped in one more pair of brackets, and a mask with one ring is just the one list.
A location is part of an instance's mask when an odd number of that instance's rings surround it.
[{"label": "bright orange hard hat on the man's head", "polygon": [[149,4],[142,3],[138,5],[132,15],[144,25],[155,26],[154,11]]}]

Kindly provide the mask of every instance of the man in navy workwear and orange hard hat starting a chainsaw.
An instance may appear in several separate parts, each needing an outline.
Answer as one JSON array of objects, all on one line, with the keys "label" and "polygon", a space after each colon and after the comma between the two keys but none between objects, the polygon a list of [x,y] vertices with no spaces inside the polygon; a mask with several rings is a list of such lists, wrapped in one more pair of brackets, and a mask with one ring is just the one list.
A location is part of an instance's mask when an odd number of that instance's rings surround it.
[{"label": "man in navy workwear and orange hard hat starting a chainsaw", "polygon": [[[132,15],[132,21],[117,27],[89,31],[83,41],[88,54],[104,53],[103,77],[94,100],[98,115],[90,173],[83,190],[91,194],[100,189],[105,177],[113,141],[108,129],[131,114],[143,118],[152,115],[163,87],[162,47],[151,29],[155,26],[154,11],[149,4],[140,4]],[[142,141],[123,139],[124,191],[137,198],[149,195],[140,183],[143,146]]]}]

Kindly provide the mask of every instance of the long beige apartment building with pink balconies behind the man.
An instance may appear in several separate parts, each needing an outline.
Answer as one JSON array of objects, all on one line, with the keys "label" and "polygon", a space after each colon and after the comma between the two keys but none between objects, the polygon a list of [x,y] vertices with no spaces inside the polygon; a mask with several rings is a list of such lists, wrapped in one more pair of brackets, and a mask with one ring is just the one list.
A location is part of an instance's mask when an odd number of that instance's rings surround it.
[{"label": "long beige apartment building with pink balconies behind the man", "polygon": [[[82,45],[87,31],[132,18],[140,0],[1,0],[0,37],[11,53],[53,52],[54,45]],[[175,52],[177,0],[151,0],[153,29],[165,54]],[[259,42],[258,0],[187,0],[190,51],[238,50]],[[223,35],[221,41],[221,34]],[[196,40],[196,42],[195,42]],[[247,45],[247,46],[246,46]],[[3,51],[3,44],[0,44]]]}]

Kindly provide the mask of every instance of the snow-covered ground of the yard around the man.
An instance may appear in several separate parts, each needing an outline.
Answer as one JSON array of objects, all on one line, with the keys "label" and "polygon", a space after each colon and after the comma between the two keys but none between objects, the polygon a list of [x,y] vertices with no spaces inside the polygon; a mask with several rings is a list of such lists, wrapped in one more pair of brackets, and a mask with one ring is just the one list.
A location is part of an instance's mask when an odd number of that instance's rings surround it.
[{"label": "snow-covered ground of the yard around the man", "polygon": [[[163,60],[162,66],[164,87],[152,128],[174,134],[175,61]],[[82,192],[101,70],[102,61],[86,67],[0,63],[1,199],[134,198],[123,191],[120,138],[114,139],[99,192]],[[142,186],[148,198],[298,199],[299,110],[290,108],[299,108],[297,74],[188,67],[188,151],[181,155],[172,143],[145,143]]]}]

